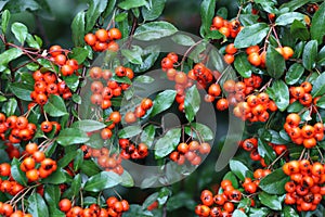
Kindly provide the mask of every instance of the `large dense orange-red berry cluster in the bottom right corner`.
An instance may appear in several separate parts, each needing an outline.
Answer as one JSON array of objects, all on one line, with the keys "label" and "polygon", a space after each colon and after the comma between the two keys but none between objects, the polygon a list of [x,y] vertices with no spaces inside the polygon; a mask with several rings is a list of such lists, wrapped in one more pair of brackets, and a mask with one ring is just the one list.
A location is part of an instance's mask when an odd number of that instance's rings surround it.
[{"label": "large dense orange-red berry cluster in the bottom right corner", "polygon": [[309,159],[291,161],[283,166],[290,177],[285,184],[285,204],[295,205],[299,212],[315,210],[325,195],[325,167]]}]

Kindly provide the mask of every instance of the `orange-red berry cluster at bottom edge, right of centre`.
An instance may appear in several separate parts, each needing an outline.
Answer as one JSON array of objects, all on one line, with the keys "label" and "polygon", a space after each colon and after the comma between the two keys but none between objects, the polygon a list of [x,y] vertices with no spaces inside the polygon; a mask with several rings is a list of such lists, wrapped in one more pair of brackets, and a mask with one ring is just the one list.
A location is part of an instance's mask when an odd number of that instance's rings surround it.
[{"label": "orange-red berry cluster at bottom edge, right of centre", "polygon": [[195,214],[200,217],[230,216],[235,210],[234,202],[239,202],[243,194],[226,179],[221,182],[221,189],[222,193],[216,195],[204,190],[200,193],[202,204],[195,207]]}]

